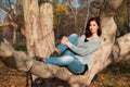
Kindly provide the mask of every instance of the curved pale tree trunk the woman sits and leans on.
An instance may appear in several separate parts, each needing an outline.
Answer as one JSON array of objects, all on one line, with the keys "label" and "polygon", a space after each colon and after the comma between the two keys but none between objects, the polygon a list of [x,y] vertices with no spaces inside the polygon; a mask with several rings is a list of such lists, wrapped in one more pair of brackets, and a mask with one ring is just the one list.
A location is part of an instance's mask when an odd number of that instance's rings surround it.
[{"label": "curved pale tree trunk the woman sits and leans on", "polygon": [[[68,82],[73,87],[88,86],[96,73],[106,67],[112,61],[117,60],[119,55],[130,52],[130,33],[118,39],[115,38],[117,26],[114,22],[114,11],[122,1],[123,0],[108,0],[107,4],[104,5],[106,11],[103,9],[101,12],[103,29],[102,45],[94,54],[90,72],[87,72],[84,75],[74,75],[65,67],[44,64],[28,59],[29,57],[26,53],[15,51],[6,41],[2,41],[0,45],[1,60],[10,64],[10,66],[17,67],[20,71],[30,71],[32,74],[43,78],[57,77]],[[113,9],[110,8],[109,10],[106,5],[112,5]],[[8,63],[8,61],[10,63]]]}]

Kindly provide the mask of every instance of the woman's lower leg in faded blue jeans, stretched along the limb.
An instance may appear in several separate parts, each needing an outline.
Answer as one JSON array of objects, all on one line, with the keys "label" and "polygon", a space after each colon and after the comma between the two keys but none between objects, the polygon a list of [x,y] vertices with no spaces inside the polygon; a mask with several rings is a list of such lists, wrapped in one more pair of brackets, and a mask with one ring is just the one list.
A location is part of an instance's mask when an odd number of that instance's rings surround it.
[{"label": "woman's lower leg in faded blue jeans, stretched along the limb", "polygon": [[67,66],[68,70],[75,74],[81,74],[84,71],[84,64],[70,55],[47,58],[44,62],[60,66]]}]

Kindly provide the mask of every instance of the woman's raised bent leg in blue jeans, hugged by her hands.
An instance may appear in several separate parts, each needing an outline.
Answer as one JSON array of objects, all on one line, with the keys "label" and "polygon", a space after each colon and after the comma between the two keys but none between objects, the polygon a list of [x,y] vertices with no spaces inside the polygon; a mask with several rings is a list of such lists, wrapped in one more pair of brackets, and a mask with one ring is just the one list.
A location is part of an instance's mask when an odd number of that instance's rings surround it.
[{"label": "woman's raised bent leg in blue jeans, hugged by her hands", "polygon": [[[76,34],[72,34],[72,35],[68,36],[68,40],[72,44],[77,46],[77,44],[78,44],[78,36]],[[66,49],[68,49],[68,47],[60,44],[60,45],[57,45],[57,49],[60,49],[60,51],[63,53]]]}]

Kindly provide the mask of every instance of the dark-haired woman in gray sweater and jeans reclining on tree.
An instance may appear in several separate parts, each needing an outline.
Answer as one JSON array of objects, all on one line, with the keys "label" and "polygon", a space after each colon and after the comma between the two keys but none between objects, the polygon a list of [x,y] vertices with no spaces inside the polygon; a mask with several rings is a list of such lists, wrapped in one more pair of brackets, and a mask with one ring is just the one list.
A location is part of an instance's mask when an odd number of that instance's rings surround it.
[{"label": "dark-haired woman in gray sweater and jeans reclining on tree", "polygon": [[91,69],[93,53],[101,44],[100,36],[100,18],[91,17],[87,23],[84,35],[80,37],[76,34],[64,36],[56,49],[63,55],[46,58],[44,63],[66,66],[75,74],[82,74],[86,70]]}]

